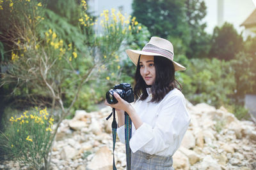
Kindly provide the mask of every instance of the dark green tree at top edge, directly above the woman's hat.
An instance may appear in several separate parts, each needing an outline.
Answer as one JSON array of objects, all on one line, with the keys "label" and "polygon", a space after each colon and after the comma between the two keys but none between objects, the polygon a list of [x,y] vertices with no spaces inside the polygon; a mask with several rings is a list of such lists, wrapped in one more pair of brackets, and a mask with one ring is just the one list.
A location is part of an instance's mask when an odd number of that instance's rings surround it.
[{"label": "dark green tree at top edge, directly above the woman's hat", "polygon": [[[189,37],[188,23],[182,1],[139,0],[132,3],[133,13],[141,24],[148,28],[151,36],[180,37],[184,43]],[[141,15],[143,14],[143,15]]]}]

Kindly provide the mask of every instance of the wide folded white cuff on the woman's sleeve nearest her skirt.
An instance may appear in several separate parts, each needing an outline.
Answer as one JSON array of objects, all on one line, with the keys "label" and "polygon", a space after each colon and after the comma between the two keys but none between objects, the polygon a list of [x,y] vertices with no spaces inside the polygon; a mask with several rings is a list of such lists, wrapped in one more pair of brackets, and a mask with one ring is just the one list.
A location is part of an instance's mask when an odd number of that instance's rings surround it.
[{"label": "wide folded white cuff on the woman's sleeve nearest her skirt", "polygon": [[140,148],[146,145],[152,138],[154,138],[152,127],[143,123],[138,129],[136,129],[130,139],[129,144],[132,152],[135,153],[140,150]]}]

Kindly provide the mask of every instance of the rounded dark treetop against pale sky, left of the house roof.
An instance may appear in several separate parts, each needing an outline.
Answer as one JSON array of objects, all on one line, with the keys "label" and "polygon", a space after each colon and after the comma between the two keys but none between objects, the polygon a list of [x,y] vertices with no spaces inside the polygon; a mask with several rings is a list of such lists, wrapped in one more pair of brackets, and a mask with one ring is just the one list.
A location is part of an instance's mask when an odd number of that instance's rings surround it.
[{"label": "rounded dark treetop against pale sky, left of the house roof", "polygon": [[232,24],[225,24],[222,27],[215,27],[209,55],[221,60],[234,59],[236,54],[243,50],[243,38],[237,34]]}]

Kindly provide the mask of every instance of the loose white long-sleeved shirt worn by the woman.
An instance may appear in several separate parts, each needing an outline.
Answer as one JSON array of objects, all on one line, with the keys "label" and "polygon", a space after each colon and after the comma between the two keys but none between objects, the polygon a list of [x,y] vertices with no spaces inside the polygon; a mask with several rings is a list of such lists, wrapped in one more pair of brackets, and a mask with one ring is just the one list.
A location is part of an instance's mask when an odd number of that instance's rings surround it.
[{"label": "loose white long-sleeved shirt worn by the woman", "polygon": [[[143,124],[138,129],[132,124],[130,148],[133,153],[140,150],[150,155],[172,156],[190,123],[185,97],[180,90],[173,89],[159,103],[148,103],[152,99],[150,88],[147,92],[147,99],[134,103]],[[117,129],[117,134],[125,143],[124,125]]]}]

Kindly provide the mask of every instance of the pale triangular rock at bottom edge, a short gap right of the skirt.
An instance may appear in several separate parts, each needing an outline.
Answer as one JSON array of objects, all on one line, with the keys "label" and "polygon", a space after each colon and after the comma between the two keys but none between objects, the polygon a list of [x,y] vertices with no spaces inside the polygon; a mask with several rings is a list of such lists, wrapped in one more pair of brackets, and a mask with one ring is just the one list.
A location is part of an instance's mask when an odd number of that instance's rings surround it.
[{"label": "pale triangular rock at bottom edge, a short gap right of the skirt", "polygon": [[206,155],[200,165],[202,170],[221,170],[221,166],[214,160],[211,155]]}]

